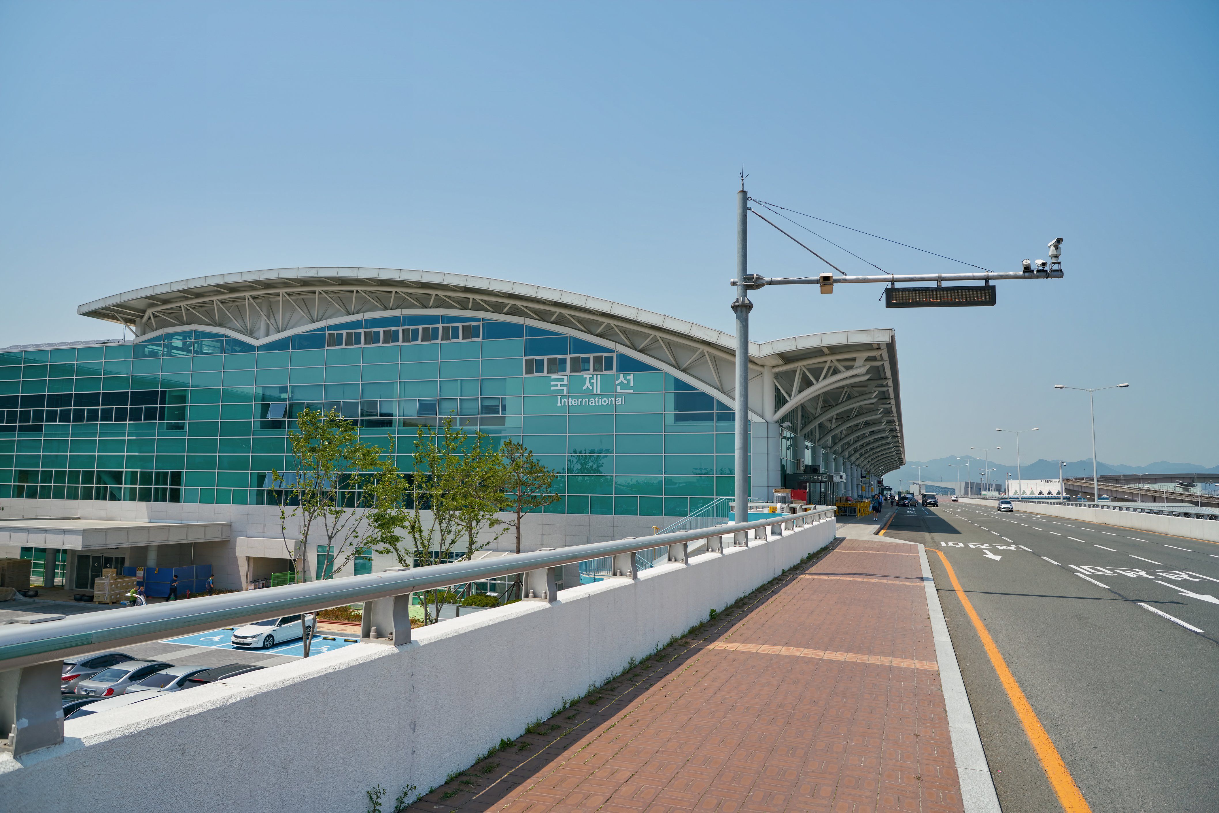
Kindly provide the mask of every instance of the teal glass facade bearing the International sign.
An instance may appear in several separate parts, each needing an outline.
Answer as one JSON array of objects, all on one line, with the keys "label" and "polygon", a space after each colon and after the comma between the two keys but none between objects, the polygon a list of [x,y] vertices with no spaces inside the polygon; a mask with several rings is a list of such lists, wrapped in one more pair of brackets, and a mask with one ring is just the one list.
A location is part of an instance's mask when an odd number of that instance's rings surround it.
[{"label": "teal glass facade bearing the International sign", "polygon": [[403,311],[257,346],[180,330],[0,353],[0,497],[263,505],[305,407],[395,435],[406,469],[445,416],[518,440],[561,474],[547,512],[680,517],[733,495],[734,414],[712,395],[578,336]]}]

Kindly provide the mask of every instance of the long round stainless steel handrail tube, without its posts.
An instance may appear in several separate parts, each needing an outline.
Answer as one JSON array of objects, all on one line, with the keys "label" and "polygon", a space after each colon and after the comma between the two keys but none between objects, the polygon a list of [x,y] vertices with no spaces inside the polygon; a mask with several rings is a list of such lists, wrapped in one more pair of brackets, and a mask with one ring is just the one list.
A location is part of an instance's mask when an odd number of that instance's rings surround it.
[{"label": "long round stainless steel handrail tube, without its posts", "polygon": [[162,602],[144,607],[121,607],[105,612],[69,616],[45,624],[9,624],[0,628],[0,670],[61,661],[73,655],[146,644],[216,629],[236,627],[275,616],[293,616],[357,602],[400,596],[421,590],[447,588],[464,581],[482,581],[545,568],[575,564],[588,559],[634,553],[663,545],[680,545],[713,536],[728,536],[770,528],[780,523],[807,525],[831,518],[834,508],[775,514],[773,519],[657,534],[629,540],[573,545],[553,551],[533,551],[473,562],[433,564],[410,570],[386,570],[369,575],[247,590],[219,596]]}]

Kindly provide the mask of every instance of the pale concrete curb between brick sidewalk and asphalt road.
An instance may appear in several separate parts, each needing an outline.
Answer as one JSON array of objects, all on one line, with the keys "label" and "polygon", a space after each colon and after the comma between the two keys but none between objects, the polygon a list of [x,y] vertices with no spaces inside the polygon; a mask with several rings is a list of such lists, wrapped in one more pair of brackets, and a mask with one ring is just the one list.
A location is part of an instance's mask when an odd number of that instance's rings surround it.
[{"label": "pale concrete curb between brick sidewalk and asphalt road", "polygon": [[969,705],[965,681],[961,678],[957,651],[952,647],[948,624],[944,620],[944,607],[940,606],[940,594],[935,589],[931,566],[926,561],[926,549],[919,542],[887,536],[884,539],[889,542],[918,545],[919,562],[923,566],[923,588],[926,591],[926,611],[931,617],[931,636],[935,639],[935,659],[940,664],[940,687],[944,691],[952,753],[961,779],[961,802],[965,813],[1001,813],[995,780],[986,762],[981,736],[978,734],[978,723],[974,720],[974,709]]}]

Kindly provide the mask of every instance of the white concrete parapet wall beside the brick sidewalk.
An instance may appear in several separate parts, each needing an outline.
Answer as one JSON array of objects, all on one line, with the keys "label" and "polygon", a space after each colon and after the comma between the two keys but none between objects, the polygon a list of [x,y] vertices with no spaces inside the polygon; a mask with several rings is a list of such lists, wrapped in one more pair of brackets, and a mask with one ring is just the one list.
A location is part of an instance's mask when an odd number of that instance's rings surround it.
[{"label": "white concrete parapet wall beside the brick sidewalk", "polygon": [[[165,789],[195,813],[352,813],[519,736],[833,540],[835,523],[414,630],[65,724],[0,754],[5,813],[119,809]],[[151,796],[149,796],[151,793]],[[144,804],[147,807],[147,804]],[[156,807],[152,803],[152,807]]]}]

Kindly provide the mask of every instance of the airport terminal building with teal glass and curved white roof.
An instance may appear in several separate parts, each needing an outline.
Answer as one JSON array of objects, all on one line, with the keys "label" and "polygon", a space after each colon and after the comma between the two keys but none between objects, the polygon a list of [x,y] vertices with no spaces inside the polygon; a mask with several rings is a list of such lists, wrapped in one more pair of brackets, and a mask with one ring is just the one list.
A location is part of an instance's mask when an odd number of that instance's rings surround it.
[{"label": "airport terminal building with teal glass and curved white roof", "polygon": [[[661,313],[386,268],[188,279],[79,313],[134,339],[0,350],[0,558],[34,559],[35,583],[208,563],[240,589],[286,569],[267,486],[305,407],[395,435],[403,468],[445,416],[525,444],[561,496],[527,519],[529,549],[651,534],[733,495],[734,339]],[[751,344],[750,406],[758,499],[867,494],[904,462],[892,330]]]}]

